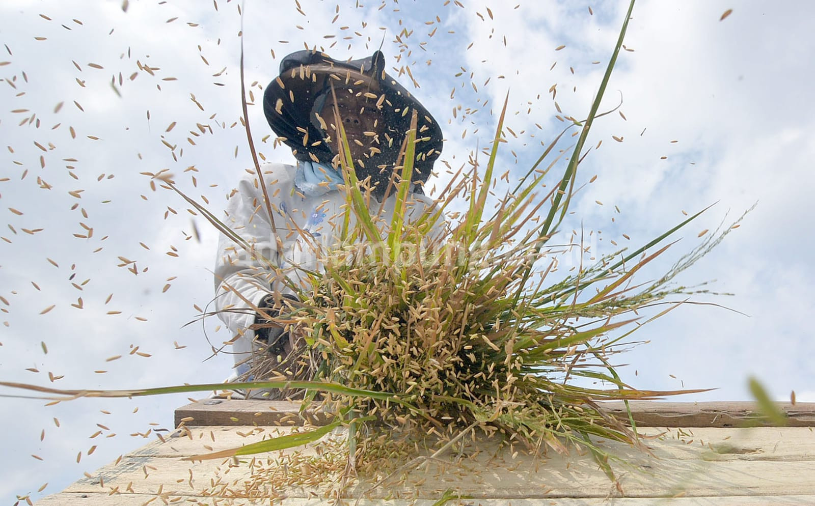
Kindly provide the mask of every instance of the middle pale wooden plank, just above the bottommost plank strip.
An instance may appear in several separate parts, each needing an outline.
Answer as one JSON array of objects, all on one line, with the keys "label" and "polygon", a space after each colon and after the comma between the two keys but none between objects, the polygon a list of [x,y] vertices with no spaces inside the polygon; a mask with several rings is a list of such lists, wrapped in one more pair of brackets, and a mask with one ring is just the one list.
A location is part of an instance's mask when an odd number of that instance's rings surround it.
[{"label": "middle pale wooden plank, just above the bottommost plank strip", "polygon": [[[467,464],[431,464],[430,472],[414,470],[398,482],[372,489],[372,482],[350,486],[349,497],[426,499],[438,497],[449,489],[462,491],[474,499],[545,499],[557,497],[606,498],[617,491],[593,462],[562,460],[535,465],[523,459],[474,460]],[[682,464],[682,465],[680,465]],[[280,464],[270,463],[271,466]],[[815,499],[813,462],[674,461],[667,465],[654,461],[647,468],[632,470],[620,478],[623,494],[629,497],[729,497],[753,495],[811,495]],[[148,468],[148,472],[143,471]],[[133,491],[150,494],[162,491],[169,496],[247,495],[258,491],[261,497],[275,495],[307,498],[324,496],[336,483],[319,486],[272,486],[246,463],[233,465],[206,461],[187,464],[174,459],[126,458],[113,469],[100,469],[93,478],[83,478],[66,492],[116,493]],[[446,471],[446,472],[444,472]],[[646,474],[647,472],[647,474]],[[105,478],[104,483],[99,477]],[[333,478],[336,479],[336,478]],[[104,486],[103,486],[104,485]]]}]

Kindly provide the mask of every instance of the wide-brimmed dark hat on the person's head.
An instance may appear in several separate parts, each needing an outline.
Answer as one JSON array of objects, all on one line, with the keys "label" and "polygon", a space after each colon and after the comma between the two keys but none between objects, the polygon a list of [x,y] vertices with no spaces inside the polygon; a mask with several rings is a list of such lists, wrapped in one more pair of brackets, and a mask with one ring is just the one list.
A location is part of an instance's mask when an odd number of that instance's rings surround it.
[{"label": "wide-brimmed dark hat on the person's head", "polygon": [[297,51],[280,62],[280,76],[269,83],[263,95],[263,112],[271,129],[292,148],[294,156],[302,161],[331,163],[333,152],[324,142],[330,133],[320,128],[316,113],[330,96],[332,86],[335,92],[353,93],[379,108],[381,128],[393,141],[390,147],[380,147],[381,154],[372,161],[378,167],[394,165],[410,128],[412,112],[416,111],[416,138],[421,140],[416,143],[413,180],[427,181],[442,152],[442,130],[430,112],[385,73],[381,51],[350,61],[337,61],[319,51]]}]

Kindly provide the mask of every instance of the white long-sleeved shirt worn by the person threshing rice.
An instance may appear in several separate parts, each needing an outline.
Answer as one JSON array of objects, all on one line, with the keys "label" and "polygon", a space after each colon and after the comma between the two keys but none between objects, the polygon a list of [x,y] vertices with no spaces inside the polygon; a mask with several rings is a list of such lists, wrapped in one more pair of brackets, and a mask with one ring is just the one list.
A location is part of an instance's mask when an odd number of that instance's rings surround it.
[{"label": "white long-sleeved shirt worn by the person threshing rice", "polygon": [[[215,264],[215,307],[218,316],[233,333],[231,353],[235,354],[236,373],[240,376],[249,368],[247,358],[252,352],[254,323],[257,306],[269,293],[291,293],[285,279],[278,279],[276,271],[293,284],[305,282],[302,271],[321,271],[319,251],[327,252],[339,244],[342,216],[346,209],[346,193],[326,191],[319,196],[305,196],[294,183],[296,167],[269,164],[261,167],[264,183],[274,214],[275,236],[269,219],[263,191],[257,174],[248,174],[240,180],[227,200],[226,218],[222,222],[240,235],[252,251],[247,251],[226,235],[218,240]],[[368,210],[380,219],[390,222],[396,198],[391,195],[382,205],[371,199]],[[416,219],[433,200],[423,195],[412,195],[407,219]],[[351,213],[351,226],[354,214]],[[434,231],[434,234],[438,230]],[[282,249],[278,248],[278,238]],[[247,301],[251,303],[248,304]]]}]

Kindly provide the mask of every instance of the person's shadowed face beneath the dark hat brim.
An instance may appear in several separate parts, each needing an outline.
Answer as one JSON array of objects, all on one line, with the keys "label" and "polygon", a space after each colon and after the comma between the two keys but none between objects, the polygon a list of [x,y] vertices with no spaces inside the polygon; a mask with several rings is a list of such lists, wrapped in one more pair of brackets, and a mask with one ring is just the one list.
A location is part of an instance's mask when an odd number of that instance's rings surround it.
[{"label": "person's shadowed face beneath the dark hat brim", "polygon": [[[346,130],[348,146],[354,164],[359,165],[358,161],[360,160],[365,164],[365,161],[372,153],[381,149],[381,112],[372,99],[367,99],[364,96],[355,97],[348,90],[337,90],[336,96],[337,109],[340,112],[343,129]],[[333,95],[328,95],[320,116],[323,117],[326,125],[334,124]],[[331,150],[336,156],[339,133],[332,132],[332,137],[334,139],[331,143]]]}]

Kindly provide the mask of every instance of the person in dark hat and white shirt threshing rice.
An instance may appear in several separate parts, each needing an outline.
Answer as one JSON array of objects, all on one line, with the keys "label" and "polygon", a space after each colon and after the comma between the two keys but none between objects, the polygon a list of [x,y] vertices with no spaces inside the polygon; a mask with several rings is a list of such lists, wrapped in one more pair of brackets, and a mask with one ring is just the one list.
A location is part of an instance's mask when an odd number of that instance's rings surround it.
[{"label": "person in dark hat and white shirt threshing rice", "polygon": [[408,219],[432,207],[422,185],[441,153],[442,131],[430,112],[385,73],[381,51],[349,61],[317,51],[286,56],[280,75],[264,92],[263,111],[279,140],[291,147],[296,164],[262,165],[262,182],[256,170],[247,170],[231,192],[224,224],[239,237],[222,234],[218,242],[215,306],[233,335],[234,377],[260,380],[274,372],[278,378],[311,379],[313,370],[297,360],[305,345],[302,336],[286,332],[280,320],[296,306],[297,290],[306,286],[303,273],[319,272],[319,252],[339,241],[341,220],[333,218],[345,212],[346,180],[337,119],[368,209],[381,218],[394,213],[393,174],[414,111],[418,141]]}]

